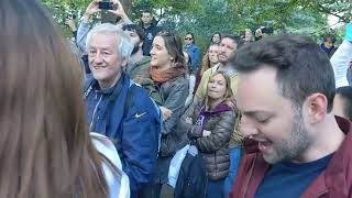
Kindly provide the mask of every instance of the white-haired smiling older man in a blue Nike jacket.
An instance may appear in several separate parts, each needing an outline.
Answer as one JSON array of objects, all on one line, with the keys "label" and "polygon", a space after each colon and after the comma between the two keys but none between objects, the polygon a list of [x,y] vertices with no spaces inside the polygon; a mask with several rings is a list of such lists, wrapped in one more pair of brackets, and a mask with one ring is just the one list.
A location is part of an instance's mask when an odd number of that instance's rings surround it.
[{"label": "white-haired smiling older man in a blue Nike jacket", "polygon": [[89,67],[85,99],[89,131],[114,140],[129,176],[131,197],[152,180],[158,153],[161,120],[146,91],[123,73],[133,45],[113,24],[94,28],[87,36]]}]

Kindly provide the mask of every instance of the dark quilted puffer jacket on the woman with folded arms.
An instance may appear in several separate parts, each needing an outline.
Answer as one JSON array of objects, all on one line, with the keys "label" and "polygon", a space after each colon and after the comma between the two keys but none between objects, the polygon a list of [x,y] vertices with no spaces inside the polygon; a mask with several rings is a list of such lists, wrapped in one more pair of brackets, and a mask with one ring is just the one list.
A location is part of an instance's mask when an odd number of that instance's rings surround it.
[{"label": "dark quilted puffer jacket on the woman with folded arms", "polygon": [[[230,156],[229,142],[234,130],[237,113],[226,105],[219,105],[210,111],[201,110],[204,102],[193,103],[182,121],[189,117],[193,124],[188,124],[188,138],[199,148],[206,163],[208,177],[219,180],[229,175]],[[187,124],[187,123],[185,123]],[[210,131],[209,136],[202,136],[202,131]]]}]

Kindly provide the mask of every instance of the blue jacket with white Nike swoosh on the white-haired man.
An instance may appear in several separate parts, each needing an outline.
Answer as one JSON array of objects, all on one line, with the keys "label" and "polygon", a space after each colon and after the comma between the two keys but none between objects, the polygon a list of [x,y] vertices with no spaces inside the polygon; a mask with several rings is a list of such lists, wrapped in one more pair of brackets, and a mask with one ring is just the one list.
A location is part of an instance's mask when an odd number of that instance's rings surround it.
[{"label": "blue jacket with white Nike swoosh on the white-haired man", "polygon": [[[117,85],[101,90],[91,75],[87,76],[85,98],[89,130],[116,141],[122,169],[129,176],[131,197],[153,179],[155,172],[161,119],[157,107],[144,88],[131,84],[122,74]],[[132,101],[127,112],[128,90]],[[128,107],[128,106],[127,106]]]}]

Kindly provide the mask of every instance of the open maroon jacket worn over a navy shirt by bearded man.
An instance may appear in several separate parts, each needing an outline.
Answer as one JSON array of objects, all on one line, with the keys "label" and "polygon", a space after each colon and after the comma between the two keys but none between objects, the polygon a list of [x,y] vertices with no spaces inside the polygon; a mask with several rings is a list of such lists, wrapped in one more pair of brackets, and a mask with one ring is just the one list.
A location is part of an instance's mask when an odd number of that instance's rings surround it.
[{"label": "open maroon jacket worn over a navy shirt by bearded man", "polygon": [[[327,168],[309,185],[301,198],[350,198],[352,197],[352,123],[336,117],[345,133],[344,141],[333,154]],[[260,153],[257,142],[245,141],[245,154],[230,197],[252,198],[270,165]]]}]

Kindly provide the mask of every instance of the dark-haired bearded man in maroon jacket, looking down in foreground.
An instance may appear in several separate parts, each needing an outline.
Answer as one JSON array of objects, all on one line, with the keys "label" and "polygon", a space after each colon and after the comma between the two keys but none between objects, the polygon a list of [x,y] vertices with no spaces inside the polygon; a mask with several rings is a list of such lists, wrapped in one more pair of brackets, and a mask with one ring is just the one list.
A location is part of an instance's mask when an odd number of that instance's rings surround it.
[{"label": "dark-haired bearded man in maroon jacket, looking down in foreground", "polygon": [[351,197],[352,125],[332,113],[333,70],[305,36],[273,36],[229,61],[240,76],[245,154],[230,197]]}]

